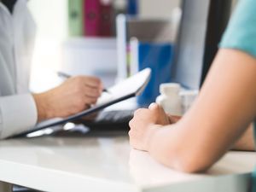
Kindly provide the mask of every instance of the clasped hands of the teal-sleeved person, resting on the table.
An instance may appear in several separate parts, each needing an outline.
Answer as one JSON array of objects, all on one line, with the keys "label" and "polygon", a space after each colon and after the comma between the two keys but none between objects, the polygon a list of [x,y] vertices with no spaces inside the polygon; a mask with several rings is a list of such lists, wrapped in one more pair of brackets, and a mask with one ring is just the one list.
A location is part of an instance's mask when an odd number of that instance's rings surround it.
[{"label": "clasped hands of the teal-sleeved person, resting on the table", "polygon": [[138,109],[129,123],[131,147],[147,151],[148,141],[154,131],[172,123],[169,115],[156,103],[152,103],[149,108]]}]

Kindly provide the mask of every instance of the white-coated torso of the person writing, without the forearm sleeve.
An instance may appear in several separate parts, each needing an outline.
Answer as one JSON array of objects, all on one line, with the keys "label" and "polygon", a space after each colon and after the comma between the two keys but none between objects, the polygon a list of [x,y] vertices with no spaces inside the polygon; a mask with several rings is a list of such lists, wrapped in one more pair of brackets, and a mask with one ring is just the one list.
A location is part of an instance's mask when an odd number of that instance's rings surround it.
[{"label": "white-coated torso of the person writing, without the forearm sleeve", "polygon": [[27,93],[35,24],[26,0],[18,0],[12,14],[0,2],[0,23],[0,96]]}]

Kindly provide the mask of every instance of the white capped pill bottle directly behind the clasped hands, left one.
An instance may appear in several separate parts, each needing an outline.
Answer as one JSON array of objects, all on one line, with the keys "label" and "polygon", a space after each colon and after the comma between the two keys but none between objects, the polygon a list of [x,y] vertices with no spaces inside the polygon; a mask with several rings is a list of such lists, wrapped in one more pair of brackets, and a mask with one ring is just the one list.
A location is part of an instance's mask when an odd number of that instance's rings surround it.
[{"label": "white capped pill bottle directly behind the clasped hands, left one", "polygon": [[166,113],[182,115],[183,108],[179,91],[179,84],[160,84],[161,95],[156,98],[156,103],[164,108]]}]

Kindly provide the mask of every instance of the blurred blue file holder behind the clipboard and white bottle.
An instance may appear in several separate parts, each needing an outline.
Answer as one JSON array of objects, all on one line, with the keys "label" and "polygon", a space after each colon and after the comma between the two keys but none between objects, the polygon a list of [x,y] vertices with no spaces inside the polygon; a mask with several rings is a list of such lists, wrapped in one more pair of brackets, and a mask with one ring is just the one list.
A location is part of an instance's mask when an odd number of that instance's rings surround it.
[{"label": "blurred blue file holder behind the clipboard and white bottle", "polygon": [[139,43],[139,71],[150,67],[151,79],[141,96],[137,97],[140,107],[148,107],[160,95],[160,84],[171,82],[173,45],[160,43]]}]

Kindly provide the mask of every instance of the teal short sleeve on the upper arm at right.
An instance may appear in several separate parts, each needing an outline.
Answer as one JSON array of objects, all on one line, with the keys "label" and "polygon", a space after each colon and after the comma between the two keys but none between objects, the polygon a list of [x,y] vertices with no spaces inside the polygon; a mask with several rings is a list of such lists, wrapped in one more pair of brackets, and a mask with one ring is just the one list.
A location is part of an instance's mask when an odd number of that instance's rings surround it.
[{"label": "teal short sleeve on the upper arm at right", "polygon": [[256,58],[256,1],[240,0],[219,44],[239,49]]}]

